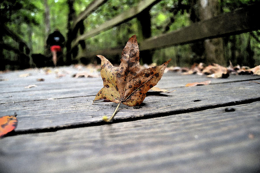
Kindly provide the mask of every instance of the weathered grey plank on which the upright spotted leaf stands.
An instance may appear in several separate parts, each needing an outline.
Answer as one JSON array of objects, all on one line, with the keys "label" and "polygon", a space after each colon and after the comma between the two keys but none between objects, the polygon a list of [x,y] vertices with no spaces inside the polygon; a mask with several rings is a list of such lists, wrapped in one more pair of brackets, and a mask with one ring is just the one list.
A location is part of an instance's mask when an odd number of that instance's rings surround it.
[{"label": "weathered grey plank on which the upright spotted leaf stands", "polygon": [[[258,80],[259,82],[260,80]],[[150,93],[140,107],[121,105],[115,121],[149,118],[260,100],[259,84],[235,82],[208,86],[183,87],[172,93]],[[93,96],[0,104],[0,115],[17,112],[17,131],[89,126],[111,116],[117,104],[97,102]]]}]

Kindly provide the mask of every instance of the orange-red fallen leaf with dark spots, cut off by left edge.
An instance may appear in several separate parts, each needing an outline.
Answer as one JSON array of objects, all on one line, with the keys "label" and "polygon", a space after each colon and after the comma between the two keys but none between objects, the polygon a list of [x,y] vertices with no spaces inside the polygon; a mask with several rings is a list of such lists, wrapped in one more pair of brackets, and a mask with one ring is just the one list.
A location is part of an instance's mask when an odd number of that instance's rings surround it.
[{"label": "orange-red fallen leaf with dark spots, cut off by left edge", "polygon": [[15,112],[14,115],[7,115],[0,118],[0,138],[16,128],[18,123],[16,116]]}]

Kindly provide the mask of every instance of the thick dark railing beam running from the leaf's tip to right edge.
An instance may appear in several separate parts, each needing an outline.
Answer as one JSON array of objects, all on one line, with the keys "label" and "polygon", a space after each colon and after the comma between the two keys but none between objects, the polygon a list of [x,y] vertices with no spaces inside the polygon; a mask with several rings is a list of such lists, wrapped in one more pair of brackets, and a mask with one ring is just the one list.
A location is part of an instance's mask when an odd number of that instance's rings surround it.
[{"label": "thick dark railing beam running from the leaf's tip to right edge", "polygon": [[140,43],[139,48],[140,50],[158,49],[260,29],[257,19],[260,16],[259,7],[259,4],[252,5],[209,20],[193,23],[178,31],[146,39]]}]

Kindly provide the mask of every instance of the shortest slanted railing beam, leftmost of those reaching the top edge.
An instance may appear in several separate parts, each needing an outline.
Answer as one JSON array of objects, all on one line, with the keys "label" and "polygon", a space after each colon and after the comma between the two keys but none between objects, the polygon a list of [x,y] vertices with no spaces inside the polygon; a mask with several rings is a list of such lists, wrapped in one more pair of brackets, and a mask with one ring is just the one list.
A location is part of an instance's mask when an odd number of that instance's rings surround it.
[{"label": "shortest slanted railing beam, leftmost of those reaching the top edge", "polygon": [[79,16],[73,21],[72,29],[77,25],[77,23],[85,19],[90,13],[96,10],[99,6],[105,3],[107,0],[94,0],[88,5],[88,7],[79,14]]}]

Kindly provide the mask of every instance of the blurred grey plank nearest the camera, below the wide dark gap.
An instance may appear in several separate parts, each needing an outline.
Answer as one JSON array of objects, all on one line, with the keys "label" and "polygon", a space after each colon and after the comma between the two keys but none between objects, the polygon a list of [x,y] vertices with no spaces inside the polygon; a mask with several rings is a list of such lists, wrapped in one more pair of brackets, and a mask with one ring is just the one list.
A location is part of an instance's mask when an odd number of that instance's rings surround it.
[{"label": "blurred grey plank nearest the camera, below the wide dark gap", "polygon": [[258,172],[260,102],[186,114],[6,137],[12,172]]}]

